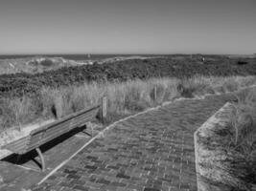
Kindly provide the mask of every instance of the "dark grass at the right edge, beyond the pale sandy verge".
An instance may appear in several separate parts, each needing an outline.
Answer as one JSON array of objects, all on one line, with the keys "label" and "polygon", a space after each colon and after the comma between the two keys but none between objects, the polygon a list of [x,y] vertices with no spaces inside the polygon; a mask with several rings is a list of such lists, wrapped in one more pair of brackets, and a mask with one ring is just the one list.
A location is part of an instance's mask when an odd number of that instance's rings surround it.
[{"label": "dark grass at the right edge, beyond the pale sandy verge", "polygon": [[245,171],[245,181],[256,184],[256,89],[243,91],[237,97],[227,151],[240,156],[234,161],[236,169]]}]

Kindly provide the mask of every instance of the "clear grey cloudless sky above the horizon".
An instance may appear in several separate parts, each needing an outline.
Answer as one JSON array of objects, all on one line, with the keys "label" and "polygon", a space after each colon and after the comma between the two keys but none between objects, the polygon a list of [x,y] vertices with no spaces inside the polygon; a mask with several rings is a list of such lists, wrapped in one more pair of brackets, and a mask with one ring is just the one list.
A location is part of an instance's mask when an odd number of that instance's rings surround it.
[{"label": "clear grey cloudless sky above the horizon", "polygon": [[0,0],[14,53],[256,53],[256,0]]}]

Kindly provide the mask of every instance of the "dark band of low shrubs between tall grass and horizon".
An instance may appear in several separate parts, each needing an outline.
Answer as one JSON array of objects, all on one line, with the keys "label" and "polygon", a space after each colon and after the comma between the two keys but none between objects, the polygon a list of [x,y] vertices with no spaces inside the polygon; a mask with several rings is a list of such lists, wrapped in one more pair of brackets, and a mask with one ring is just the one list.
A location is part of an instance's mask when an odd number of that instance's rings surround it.
[{"label": "dark band of low shrubs between tall grass and horizon", "polygon": [[[124,82],[128,80],[146,80],[152,77],[190,78],[195,75],[233,76],[254,75],[254,59],[245,60],[248,64],[238,65],[236,59],[225,57],[205,58],[205,64],[198,59],[182,57],[128,59],[112,63],[63,67],[58,70],[39,74],[2,74],[0,75],[0,96],[34,96],[39,94],[42,86],[52,88],[60,86],[81,85],[92,81]],[[42,63],[41,63],[42,62]],[[40,67],[52,65],[52,61],[40,61]],[[54,64],[55,66],[56,64]],[[184,92],[184,94],[189,94]]]}]

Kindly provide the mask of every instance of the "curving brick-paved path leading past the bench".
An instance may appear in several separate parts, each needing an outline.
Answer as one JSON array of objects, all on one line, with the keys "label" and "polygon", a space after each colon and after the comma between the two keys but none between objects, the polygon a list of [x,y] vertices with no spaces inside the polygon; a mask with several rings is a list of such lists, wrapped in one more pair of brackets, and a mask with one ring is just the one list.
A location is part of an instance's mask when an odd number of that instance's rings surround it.
[{"label": "curving brick-paved path leading past the bench", "polygon": [[32,189],[197,190],[193,133],[230,98],[179,100],[129,118]]}]

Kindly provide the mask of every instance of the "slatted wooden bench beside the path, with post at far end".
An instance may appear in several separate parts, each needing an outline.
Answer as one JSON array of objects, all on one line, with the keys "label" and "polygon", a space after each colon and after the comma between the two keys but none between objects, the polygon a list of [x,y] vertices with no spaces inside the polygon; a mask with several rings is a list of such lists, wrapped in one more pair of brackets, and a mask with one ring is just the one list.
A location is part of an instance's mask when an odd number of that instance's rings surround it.
[{"label": "slatted wooden bench beside the path, with post at far end", "polygon": [[19,138],[3,146],[2,149],[8,149],[12,153],[18,154],[18,159],[21,155],[35,149],[41,160],[41,169],[45,171],[45,160],[39,147],[54,138],[58,138],[75,128],[85,125],[86,122],[93,120],[97,116],[104,122],[106,116],[106,97],[102,98],[100,105],[92,107],[89,110],[82,110],[67,117],[62,117],[57,121],[39,127],[33,130],[29,136]]}]

